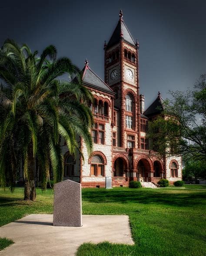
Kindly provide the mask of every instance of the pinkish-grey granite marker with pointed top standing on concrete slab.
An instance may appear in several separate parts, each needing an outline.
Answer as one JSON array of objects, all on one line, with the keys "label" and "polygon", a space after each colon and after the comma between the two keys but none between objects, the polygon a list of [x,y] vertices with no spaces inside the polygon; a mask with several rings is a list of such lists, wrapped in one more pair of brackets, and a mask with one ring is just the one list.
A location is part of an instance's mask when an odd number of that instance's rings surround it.
[{"label": "pinkish-grey granite marker with pointed top standing on concrete slab", "polygon": [[54,185],[53,225],[82,226],[82,194],[80,183],[66,180]]}]

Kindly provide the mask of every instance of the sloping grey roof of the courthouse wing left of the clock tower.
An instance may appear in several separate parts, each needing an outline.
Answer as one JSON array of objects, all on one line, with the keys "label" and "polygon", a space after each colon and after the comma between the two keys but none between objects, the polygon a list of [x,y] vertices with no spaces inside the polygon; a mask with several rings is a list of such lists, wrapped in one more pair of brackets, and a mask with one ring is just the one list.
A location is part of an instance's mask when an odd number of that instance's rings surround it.
[{"label": "sloping grey roof of the courthouse wing left of the clock tower", "polygon": [[106,83],[103,82],[103,80],[100,79],[99,76],[96,75],[88,65],[85,65],[85,67],[83,68],[82,81],[85,85],[89,85],[102,91],[115,94],[113,90],[108,85],[106,85]]}]

